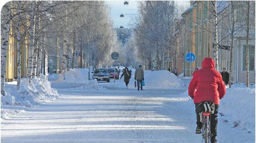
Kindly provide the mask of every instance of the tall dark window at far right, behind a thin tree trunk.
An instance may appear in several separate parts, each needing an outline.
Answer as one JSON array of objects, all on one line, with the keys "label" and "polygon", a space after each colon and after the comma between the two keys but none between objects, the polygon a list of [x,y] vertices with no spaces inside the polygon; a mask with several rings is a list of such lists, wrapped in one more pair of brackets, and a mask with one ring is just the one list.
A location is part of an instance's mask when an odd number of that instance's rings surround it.
[{"label": "tall dark window at far right, behind a thin tree trunk", "polygon": [[[245,53],[245,48],[246,48],[246,45],[243,46],[243,70],[246,70],[246,53]],[[252,71],[254,70],[254,49],[255,49],[255,46],[253,45],[249,45],[249,70]]]}]

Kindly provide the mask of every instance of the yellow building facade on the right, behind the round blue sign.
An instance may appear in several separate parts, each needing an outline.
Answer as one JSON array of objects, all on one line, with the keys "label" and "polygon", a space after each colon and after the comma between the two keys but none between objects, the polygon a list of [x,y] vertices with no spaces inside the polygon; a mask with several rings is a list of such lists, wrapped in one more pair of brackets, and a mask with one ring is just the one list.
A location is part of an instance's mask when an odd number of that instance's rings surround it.
[{"label": "yellow building facade on the right, behind the round blue sign", "polygon": [[[184,32],[184,76],[190,76],[196,67],[202,67],[205,57],[212,57],[212,31],[209,23],[212,5],[209,1],[191,1],[191,6],[183,14],[185,19]],[[196,60],[192,63],[185,61],[186,53],[194,53]],[[192,68],[192,70],[191,70]]]}]

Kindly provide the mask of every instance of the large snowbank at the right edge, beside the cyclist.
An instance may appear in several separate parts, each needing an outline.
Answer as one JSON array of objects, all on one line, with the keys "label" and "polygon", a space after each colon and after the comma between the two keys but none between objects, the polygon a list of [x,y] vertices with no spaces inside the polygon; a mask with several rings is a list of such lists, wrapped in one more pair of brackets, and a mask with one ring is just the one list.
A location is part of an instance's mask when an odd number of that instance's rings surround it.
[{"label": "large snowbank at the right edge, beside the cyclist", "polygon": [[[255,86],[233,85],[221,100],[219,112],[225,122],[233,127],[241,127],[248,132],[255,129]],[[224,115],[224,116],[223,116]]]}]

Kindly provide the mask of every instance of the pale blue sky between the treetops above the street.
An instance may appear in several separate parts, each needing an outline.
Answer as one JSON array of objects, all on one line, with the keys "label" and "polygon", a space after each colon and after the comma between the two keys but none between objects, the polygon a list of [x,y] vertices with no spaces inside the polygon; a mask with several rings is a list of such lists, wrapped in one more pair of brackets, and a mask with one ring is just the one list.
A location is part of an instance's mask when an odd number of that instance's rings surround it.
[{"label": "pale blue sky between the treetops above the street", "polygon": [[[138,16],[138,2],[139,1],[127,1],[128,5],[124,5],[125,1],[105,1],[106,4],[111,8],[111,18],[113,20],[114,27],[129,28],[133,24],[132,18]],[[189,6],[190,1],[175,1],[178,5],[186,4]],[[121,18],[120,14],[124,14]],[[125,15],[129,14],[129,15]]]}]

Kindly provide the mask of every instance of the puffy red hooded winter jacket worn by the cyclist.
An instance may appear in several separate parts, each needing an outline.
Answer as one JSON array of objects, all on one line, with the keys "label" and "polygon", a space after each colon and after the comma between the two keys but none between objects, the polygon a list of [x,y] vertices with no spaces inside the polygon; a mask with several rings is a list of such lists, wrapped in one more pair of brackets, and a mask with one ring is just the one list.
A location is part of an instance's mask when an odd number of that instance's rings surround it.
[{"label": "puffy red hooded winter jacket worn by the cyclist", "polygon": [[202,62],[202,69],[198,70],[188,86],[188,95],[194,103],[212,101],[220,104],[220,99],[225,95],[225,84],[222,76],[215,68],[214,59],[206,57]]}]

